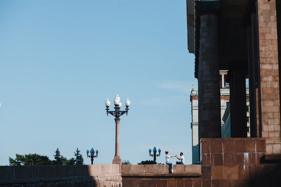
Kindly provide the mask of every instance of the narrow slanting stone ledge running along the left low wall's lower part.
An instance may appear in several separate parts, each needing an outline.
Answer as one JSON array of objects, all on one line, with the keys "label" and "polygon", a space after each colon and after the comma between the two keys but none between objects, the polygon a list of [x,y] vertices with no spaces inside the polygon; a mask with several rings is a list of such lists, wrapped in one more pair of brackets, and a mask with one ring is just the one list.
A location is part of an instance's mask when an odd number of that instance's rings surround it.
[{"label": "narrow slanting stone ledge running along the left low wall's lower part", "polygon": [[17,184],[17,183],[34,183],[34,182],[49,182],[49,181],[64,181],[64,180],[84,180],[97,179],[104,177],[121,176],[120,173],[102,174],[93,176],[76,176],[76,177],[53,177],[53,178],[38,178],[38,179],[17,179],[17,180],[0,180],[0,184]]}]

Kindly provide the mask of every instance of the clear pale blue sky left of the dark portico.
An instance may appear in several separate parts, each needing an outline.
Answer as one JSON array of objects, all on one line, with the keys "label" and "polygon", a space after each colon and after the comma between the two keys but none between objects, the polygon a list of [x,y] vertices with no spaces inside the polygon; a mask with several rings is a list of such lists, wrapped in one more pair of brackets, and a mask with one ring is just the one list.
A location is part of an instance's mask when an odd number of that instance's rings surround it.
[{"label": "clear pale blue sky left of the dark portico", "polygon": [[78,147],[85,164],[93,147],[96,164],[112,163],[104,102],[117,93],[131,100],[123,160],[152,159],[156,146],[157,162],[170,151],[191,164],[192,84],[185,0],[0,1],[0,165],[16,153],[53,160],[57,147],[67,158]]}]

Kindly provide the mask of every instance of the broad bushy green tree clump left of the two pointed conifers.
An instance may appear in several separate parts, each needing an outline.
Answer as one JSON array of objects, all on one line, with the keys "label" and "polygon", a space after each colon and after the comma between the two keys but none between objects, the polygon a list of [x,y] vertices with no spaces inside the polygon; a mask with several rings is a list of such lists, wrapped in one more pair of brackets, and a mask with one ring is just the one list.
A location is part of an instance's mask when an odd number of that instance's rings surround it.
[{"label": "broad bushy green tree clump left of the two pointed conifers", "polygon": [[16,154],[16,158],[9,157],[9,165],[51,165],[52,161],[48,156],[38,155],[36,153],[28,155]]}]

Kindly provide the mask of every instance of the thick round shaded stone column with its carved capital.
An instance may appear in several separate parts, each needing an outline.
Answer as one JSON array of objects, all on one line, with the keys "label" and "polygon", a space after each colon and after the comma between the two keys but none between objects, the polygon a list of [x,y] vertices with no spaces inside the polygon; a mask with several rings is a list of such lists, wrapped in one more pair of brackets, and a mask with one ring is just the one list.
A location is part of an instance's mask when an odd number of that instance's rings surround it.
[{"label": "thick round shaded stone column with its carved capital", "polygon": [[[195,1],[200,16],[199,133],[200,138],[220,138],[219,1]],[[199,15],[198,15],[199,14]]]}]

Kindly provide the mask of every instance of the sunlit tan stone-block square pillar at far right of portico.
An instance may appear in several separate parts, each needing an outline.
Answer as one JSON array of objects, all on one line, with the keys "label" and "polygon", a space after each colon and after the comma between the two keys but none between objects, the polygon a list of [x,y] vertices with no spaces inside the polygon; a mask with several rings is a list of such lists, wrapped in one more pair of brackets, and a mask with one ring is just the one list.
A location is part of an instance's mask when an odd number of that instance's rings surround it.
[{"label": "sunlit tan stone-block square pillar at far right of portico", "polygon": [[261,84],[262,137],[266,137],[267,153],[279,153],[280,98],[277,45],[276,0],[258,0],[259,57]]}]

